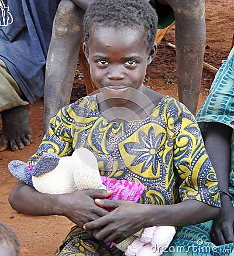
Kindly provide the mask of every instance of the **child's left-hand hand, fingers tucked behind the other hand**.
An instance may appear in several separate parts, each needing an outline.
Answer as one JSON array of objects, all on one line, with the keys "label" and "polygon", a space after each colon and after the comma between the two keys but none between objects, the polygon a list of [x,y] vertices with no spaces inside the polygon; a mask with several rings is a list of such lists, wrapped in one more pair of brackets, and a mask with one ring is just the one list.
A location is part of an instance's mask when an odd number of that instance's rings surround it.
[{"label": "child's left-hand hand, fingers tucked behind the other hand", "polygon": [[60,215],[81,227],[88,221],[99,219],[109,213],[108,210],[95,204],[94,199],[102,199],[111,196],[112,190],[87,189],[70,194],[61,194],[59,197]]}]

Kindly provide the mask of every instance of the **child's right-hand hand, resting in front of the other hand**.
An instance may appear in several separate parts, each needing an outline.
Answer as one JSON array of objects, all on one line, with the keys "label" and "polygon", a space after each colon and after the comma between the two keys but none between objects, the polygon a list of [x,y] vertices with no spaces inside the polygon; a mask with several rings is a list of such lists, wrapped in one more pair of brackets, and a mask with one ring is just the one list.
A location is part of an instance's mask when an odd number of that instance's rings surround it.
[{"label": "child's right-hand hand, resting in front of the other hand", "polygon": [[146,226],[147,204],[123,200],[95,200],[97,206],[114,209],[94,221],[84,224],[83,228],[92,231],[95,238],[105,243],[120,243],[125,238]]}]

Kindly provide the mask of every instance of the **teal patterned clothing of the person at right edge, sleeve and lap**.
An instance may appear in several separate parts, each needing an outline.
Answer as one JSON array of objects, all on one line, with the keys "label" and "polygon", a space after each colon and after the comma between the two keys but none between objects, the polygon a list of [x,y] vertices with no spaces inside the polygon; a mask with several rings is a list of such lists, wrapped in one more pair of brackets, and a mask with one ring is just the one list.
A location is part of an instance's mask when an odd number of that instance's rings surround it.
[{"label": "teal patterned clothing of the person at right edge, sleeve and lap", "polygon": [[[205,135],[208,122],[221,122],[234,128],[234,47],[215,76],[210,93],[197,114],[198,125]],[[234,131],[234,130],[233,130]],[[234,132],[233,132],[234,134]],[[232,159],[234,160],[234,135]],[[234,194],[234,161],[230,168],[229,193]],[[234,207],[234,201],[232,201]],[[195,226],[179,227],[168,252],[163,255],[234,255],[234,243],[215,246],[209,233],[212,221]]]}]

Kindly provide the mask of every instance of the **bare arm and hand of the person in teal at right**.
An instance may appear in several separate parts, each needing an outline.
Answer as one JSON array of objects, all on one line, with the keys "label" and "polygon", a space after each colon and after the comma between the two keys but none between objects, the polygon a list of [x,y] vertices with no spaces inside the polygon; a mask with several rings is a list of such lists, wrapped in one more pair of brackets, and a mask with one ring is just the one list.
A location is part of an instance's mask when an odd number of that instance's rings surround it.
[{"label": "bare arm and hand of the person in teal at right", "polygon": [[[205,147],[215,168],[219,189],[225,192],[228,192],[229,186],[231,136],[232,128],[219,122],[209,123],[205,136]],[[234,208],[229,196],[221,193],[221,204],[221,211],[211,231],[211,238],[216,245],[234,242]]]}]

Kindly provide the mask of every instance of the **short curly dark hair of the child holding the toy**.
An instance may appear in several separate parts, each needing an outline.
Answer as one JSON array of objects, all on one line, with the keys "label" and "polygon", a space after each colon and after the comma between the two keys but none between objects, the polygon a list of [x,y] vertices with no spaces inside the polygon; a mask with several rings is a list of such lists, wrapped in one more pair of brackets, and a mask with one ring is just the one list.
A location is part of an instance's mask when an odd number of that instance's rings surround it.
[{"label": "short curly dark hair of the child holding the toy", "polygon": [[96,0],[84,16],[84,41],[88,46],[93,29],[106,26],[116,29],[143,28],[149,51],[157,32],[157,13],[147,0]]}]

